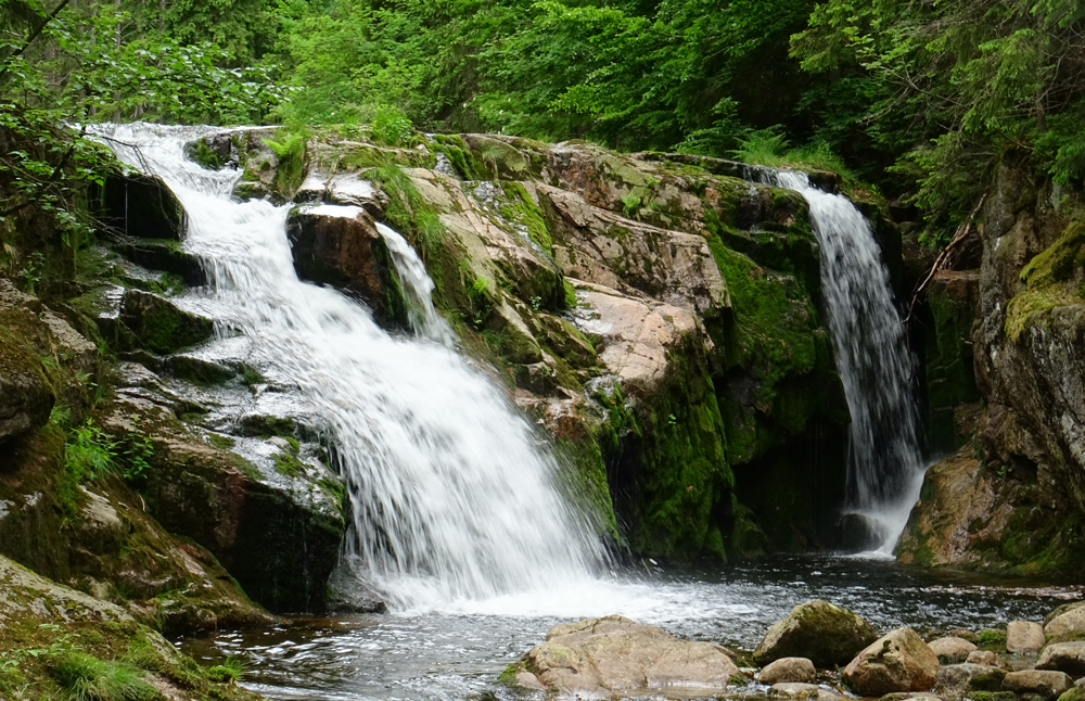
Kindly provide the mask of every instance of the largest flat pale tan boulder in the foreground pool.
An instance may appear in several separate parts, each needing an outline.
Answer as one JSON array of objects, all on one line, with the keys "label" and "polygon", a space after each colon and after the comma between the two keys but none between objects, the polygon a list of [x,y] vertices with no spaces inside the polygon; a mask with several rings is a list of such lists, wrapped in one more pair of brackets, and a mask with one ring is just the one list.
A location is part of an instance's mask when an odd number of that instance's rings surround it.
[{"label": "largest flat pale tan boulder in the foreground pool", "polygon": [[527,672],[546,689],[605,697],[693,687],[724,691],[739,670],[711,642],[681,640],[664,630],[610,615],[557,625],[502,675],[529,687]]}]

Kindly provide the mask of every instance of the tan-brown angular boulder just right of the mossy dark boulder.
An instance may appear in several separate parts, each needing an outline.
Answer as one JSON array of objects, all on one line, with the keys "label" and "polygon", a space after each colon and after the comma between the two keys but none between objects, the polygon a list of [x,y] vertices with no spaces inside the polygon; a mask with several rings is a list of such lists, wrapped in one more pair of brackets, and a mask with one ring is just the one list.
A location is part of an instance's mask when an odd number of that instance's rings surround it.
[{"label": "tan-brown angular boulder just right of the mossy dark boulder", "polygon": [[939,658],[911,628],[882,636],[844,668],[842,679],[860,696],[893,691],[929,691],[939,672]]}]

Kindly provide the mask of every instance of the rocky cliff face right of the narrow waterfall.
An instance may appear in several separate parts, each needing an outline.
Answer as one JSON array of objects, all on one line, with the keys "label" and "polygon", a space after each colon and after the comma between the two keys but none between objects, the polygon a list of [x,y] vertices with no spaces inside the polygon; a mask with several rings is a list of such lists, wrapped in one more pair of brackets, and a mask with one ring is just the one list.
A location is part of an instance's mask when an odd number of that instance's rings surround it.
[{"label": "rocky cliff face right of the narrow waterfall", "polygon": [[960,449],[928,472],[903,561],[1081,574],[1082,204],[1007,160],[976,227],[979,269],[928,292],[932,434]]}]

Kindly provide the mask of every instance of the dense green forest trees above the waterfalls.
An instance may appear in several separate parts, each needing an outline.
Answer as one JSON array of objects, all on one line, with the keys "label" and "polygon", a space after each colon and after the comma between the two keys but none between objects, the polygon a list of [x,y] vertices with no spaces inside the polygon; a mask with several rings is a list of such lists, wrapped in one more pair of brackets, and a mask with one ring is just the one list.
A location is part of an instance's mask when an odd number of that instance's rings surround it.
[{"label": "dense green forest trees above the waterfalls", "polygon": [[110,160],[82,125],[135,119],[821,167],[937,246],[1001,158],[1085,176],[1085,3],[0,0],[0,268],[92,239],[79,197]]}]

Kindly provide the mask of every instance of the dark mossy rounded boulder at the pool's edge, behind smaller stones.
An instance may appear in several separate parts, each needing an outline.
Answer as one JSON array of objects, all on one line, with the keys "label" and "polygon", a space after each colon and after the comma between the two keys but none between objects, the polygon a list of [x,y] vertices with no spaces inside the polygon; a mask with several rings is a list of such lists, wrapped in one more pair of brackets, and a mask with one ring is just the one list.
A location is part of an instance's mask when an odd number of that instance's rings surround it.
[{"label": "dark mossy rounded boulder at the pool's edge, behind smaller stones", "polygon": [[758,664],[805,657],[819,667],[844,664],[878,635],[865,620],[828,601],[808,601],[773,625],[754,650]]}]

